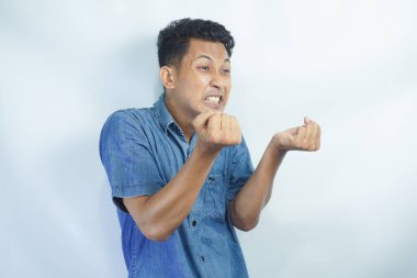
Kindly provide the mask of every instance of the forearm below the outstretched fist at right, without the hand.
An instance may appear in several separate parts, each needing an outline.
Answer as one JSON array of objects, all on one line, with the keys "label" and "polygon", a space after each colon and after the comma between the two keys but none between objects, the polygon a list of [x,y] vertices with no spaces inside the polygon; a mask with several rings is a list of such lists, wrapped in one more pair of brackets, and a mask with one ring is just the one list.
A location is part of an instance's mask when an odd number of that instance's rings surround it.
[{"label": "forearm below the outstretched fist at right, without the hand", "polygon": [[273,180],[285,156],[273,143],[269,143],[252,176],[229,203],[233,224],[244,231],[253,229],[263,207],[271,198]]}]

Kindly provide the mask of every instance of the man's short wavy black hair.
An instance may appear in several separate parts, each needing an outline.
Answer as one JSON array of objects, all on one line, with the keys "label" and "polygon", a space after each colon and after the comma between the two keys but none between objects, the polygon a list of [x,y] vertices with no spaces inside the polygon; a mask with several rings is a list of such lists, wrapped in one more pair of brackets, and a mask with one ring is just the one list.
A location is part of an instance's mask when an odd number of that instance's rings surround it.
[{"label": "man's short wavy black hair", "polygon": [[159,32],[159,67],[179,65],[188,52],[190,38],[222,43],[229,57],[235,46],[230,32],[217,22],[201,19],[176,20]]}]

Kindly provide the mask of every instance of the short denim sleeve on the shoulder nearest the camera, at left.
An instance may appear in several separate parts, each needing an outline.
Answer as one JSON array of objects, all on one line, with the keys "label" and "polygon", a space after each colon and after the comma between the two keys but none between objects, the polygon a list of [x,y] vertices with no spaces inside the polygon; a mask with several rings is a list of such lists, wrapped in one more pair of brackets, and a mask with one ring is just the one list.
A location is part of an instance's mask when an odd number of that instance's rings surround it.
[{"label": "short denim sleeve on the shoulder nearest the camera, at left", "polygon": [[113,201],[125,212],[122,198],[151,196],[164,186],[142,124],[128,112],[117,111],[104,123],[100,136],[100,157]]}]

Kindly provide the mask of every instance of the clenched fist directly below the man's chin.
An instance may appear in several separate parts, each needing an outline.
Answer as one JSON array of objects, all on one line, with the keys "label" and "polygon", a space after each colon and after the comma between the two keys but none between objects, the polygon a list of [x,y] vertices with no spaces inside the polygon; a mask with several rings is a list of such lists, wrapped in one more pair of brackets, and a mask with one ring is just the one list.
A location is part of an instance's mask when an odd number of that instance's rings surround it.
[{"label": "clenched fist directly below the man's chin", "polygon": [[214,154],[241,142],[240,126],[234,115],[210,111],[198,115],[192,124],[203,152]]}]

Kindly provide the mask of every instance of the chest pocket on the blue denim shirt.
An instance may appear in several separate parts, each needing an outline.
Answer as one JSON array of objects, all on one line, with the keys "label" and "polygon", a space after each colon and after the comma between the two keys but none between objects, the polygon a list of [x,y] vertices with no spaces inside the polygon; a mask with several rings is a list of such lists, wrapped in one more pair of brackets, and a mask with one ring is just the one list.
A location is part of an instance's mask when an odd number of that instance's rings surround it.
[{"label": "chest pocket on the blue denim shirt", "polygon": [[210,174],[205,180],[204,210],[213,220],[226,222],[227,184],[224,175]]}]

